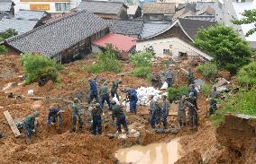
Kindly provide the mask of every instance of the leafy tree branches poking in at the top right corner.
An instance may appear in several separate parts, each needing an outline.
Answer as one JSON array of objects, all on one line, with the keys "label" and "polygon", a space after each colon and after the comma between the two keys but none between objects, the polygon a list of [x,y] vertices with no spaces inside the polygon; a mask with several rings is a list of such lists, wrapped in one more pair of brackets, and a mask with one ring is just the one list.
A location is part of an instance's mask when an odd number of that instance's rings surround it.
[{"label": "leafy tree branches poking in at the top right corner", "polygon": [[252,9],[252,10],[245,10],[242,13],[243,18],[241,20],[233,20],[232,22],[234,24],[250,24],[250,23],[254,23],[254,28],[252,28],[251,30],[249,30],[248,32],[246,32],[246,37],[249,37],[251,34],[253,34],[254,32],[256,32],[256,9]]}]

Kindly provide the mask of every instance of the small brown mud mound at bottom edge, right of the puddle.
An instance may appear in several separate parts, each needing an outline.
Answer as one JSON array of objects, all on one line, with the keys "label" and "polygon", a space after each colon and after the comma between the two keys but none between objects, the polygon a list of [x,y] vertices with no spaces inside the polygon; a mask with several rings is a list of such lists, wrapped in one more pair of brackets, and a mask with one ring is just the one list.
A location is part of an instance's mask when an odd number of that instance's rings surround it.
[{"label": "small brown mud mound at bottom edge, right of the puddle", "polygon": [[185,157],[177,160],[175,164],[202,164],[203,159],[199,151],[190,151],[188,152]]}]

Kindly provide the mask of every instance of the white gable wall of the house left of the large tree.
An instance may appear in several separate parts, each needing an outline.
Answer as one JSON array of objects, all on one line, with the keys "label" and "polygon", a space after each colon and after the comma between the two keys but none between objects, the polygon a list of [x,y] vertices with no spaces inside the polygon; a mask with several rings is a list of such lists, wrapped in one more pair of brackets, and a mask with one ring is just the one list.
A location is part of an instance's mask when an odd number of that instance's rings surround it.
[{"label": "white gable wall of the house left of the large tree", "polygon": [[212,59],[211,56],[206,55],[206,53],[178,38],[139,41],[136,44],[137,51],[144,50],[146,47],[153,47],[156,56],[159,57],[164,56],[164,49],[169,49],[173,58],[178,57],[178,52],[182,52],[187,53],[187,56],[204,56],[208,60]]}]

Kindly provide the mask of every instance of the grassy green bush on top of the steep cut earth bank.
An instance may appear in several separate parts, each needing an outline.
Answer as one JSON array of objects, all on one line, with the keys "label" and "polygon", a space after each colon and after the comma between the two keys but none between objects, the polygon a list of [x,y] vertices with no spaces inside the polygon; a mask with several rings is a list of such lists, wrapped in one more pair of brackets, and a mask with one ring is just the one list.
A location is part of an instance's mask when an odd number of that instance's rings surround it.
[{"label": "grassy green bush on top of the steep cut earth bank", "polygon": [[216,111],[216,114],[212,116],[212,120],[215,125],[219,125],[224,121],[224,116],[228,113],[231,114],[244,114],[244,115],[256,115],[256,89],[251,91],[239,91],[236,95],[229,96],[222,102],[222,108]]}]

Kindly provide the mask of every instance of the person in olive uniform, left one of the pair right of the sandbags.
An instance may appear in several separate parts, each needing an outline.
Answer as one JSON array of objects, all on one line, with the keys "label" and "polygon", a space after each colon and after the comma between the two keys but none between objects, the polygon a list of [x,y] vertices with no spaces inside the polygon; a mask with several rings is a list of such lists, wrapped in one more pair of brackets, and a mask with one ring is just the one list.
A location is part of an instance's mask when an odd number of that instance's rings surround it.
[{"label": "person in olive uniform, left one of the pair right of the sandbags", "polygon": [[180,126],[186,125],[186,96],[183,95],[178,102],[178,124]]}]

